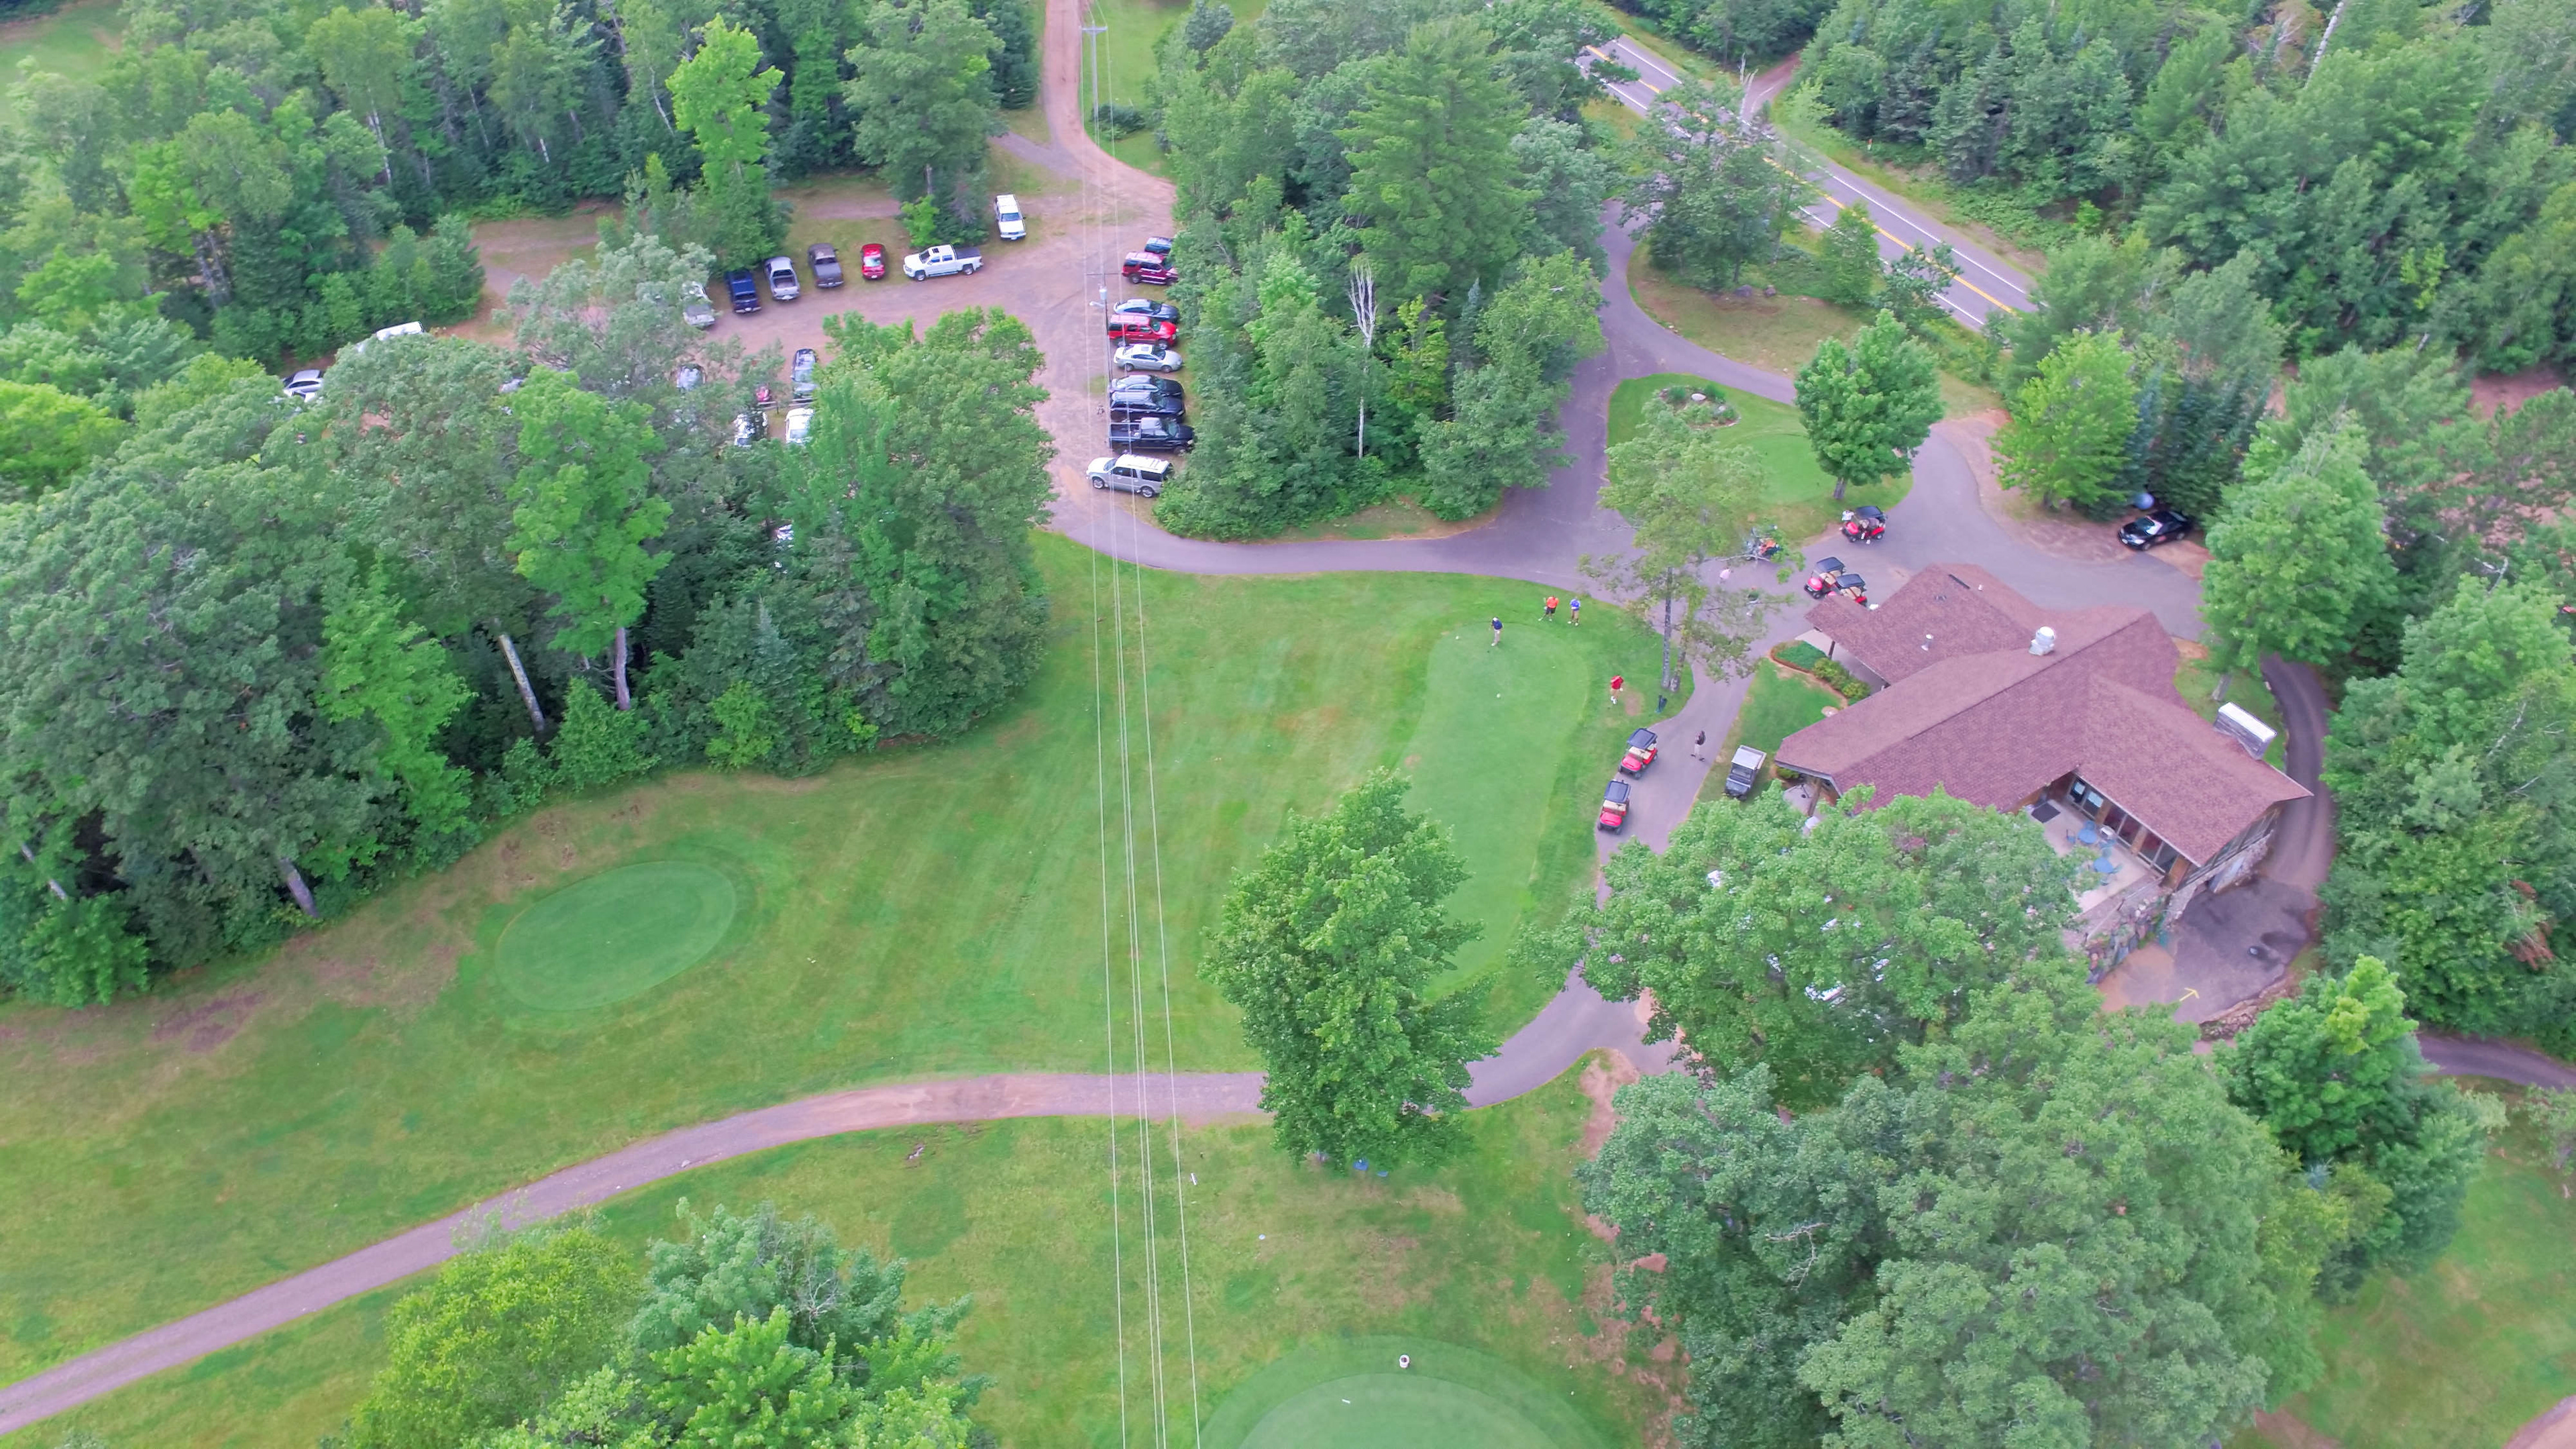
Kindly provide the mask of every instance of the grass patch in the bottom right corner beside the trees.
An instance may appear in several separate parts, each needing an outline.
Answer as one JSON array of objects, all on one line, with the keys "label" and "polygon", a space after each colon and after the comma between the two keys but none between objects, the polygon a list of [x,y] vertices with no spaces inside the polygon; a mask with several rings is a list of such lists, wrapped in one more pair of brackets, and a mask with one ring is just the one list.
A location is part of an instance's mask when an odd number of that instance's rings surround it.
[{"label": "grass patch in the bottom right corner beside the trees", "polygon": [[[2344,1449],[2496,1449],[2576,1392],[2571,1240],[2568,1178],[2517,1116],[2468,1189],[2450,1250],[2329,1312],[2316,1338],[2326,1377],[2282,1408]],[[2262,1431],[2236,1444],[2290,1449]]]}]

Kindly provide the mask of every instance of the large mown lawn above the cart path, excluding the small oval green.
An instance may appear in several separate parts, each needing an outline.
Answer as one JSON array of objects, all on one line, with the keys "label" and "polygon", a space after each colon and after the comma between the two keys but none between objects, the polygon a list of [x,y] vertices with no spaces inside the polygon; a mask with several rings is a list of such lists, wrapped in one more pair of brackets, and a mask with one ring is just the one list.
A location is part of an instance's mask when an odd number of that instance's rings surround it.
[{"label": "large mown lawn above the cart path, excluding the small oval green", "polygon": [[[574,799],[268,959],[111,1008],[0,1008],[0,1382],[667,1127],[1100,1070],[1095,554],[1038,549],[1054,647],[966,740]],[[1229,874],[1368,768],[1409,768],[1473,869],[1453,910],[1484,941],[1461,975],[1499,972],[1525,915],[1589,890],[1600,761],[1631,727],[1597,686],[1649,676],[1651,634],[1602,611],[1494,650],[1486,616],[1535,616],[1538,588],[1461,575],[1141,588],[1182,1070],[1252,1065],[1195,977]],[[726,877],[714,954],[613,1006],[523,1003],[513,920],[644,861]],[[1543,995],[1499,972],[1497,1026]]]}]

